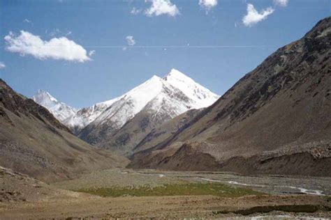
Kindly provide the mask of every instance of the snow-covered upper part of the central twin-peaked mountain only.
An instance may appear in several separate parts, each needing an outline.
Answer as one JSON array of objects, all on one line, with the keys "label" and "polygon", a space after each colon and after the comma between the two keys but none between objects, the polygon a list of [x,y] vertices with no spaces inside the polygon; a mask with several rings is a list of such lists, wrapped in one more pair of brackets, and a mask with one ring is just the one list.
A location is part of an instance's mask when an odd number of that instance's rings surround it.
[{"label": "snow-covered upper part of the central twin-peaked mountain only", "polygon": [[161,108],[167,111],[163,106],[166,100],[168,110],[173,112],[171,117],[175,117],[189,109],[207,107],[218,98],[218,95],[200,86],[182,72],[172,69],[163,79],[154,75],[119,97],[92,124],[94,127],[107,125],[108,129],[112,127],[116,130],[145,109],[147,104],[152,111],[159,111]]}]

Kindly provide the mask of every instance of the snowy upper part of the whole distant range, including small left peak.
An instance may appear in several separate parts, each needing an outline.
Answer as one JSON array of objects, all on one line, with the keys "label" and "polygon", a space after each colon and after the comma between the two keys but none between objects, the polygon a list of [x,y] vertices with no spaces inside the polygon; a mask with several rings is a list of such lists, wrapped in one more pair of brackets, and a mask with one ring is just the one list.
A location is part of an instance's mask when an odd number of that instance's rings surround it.
[{"label": "snowy upper part of the whole distant range, including small left peak", "polygon": [[218,95],[175,69],[163,78],[153,75],[115,99],[79,110],[59,102],[47,91],[38,90],[33,97],[35,102],[47,108],[75,134],[90,124],[92,127],[119,129],[143,109],[156,112],[155,116],[159,118],[173,118],[189,109],[207,107],[218,98]]}]

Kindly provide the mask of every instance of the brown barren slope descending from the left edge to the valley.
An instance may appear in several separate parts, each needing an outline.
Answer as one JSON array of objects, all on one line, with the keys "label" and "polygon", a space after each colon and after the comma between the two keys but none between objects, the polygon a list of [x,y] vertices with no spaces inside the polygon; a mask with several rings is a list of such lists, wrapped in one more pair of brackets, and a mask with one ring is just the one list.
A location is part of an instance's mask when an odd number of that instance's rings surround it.
[{"label": "brown barren slope descending from the left edge to the valley", "polygon": [[50,182],[126,163],[78,139],[50,111],[0,79],[0,166]]}]

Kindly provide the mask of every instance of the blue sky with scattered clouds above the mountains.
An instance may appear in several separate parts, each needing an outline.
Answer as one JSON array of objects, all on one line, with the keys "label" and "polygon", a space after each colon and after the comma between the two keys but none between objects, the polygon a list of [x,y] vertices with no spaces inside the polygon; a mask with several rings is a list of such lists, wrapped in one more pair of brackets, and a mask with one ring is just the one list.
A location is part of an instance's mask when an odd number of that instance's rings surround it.
[{"label": "blue sky with scattered clouds above the mountains", "polygon": [[[151,10],[153,1],[168,1],[170,8]],[[331,15],[331,0],[200,1],[0,0],[0,77],[23,95],[41,88],[73,107],[110,100],[171,68],[221,95]],[[244,24],[249,4],[258,14]],[[30,35],[20,38],[20,31]],[[77,50],[71,56],[57,47],[17,48],[17,40],[28,37],[70,41]]]}]

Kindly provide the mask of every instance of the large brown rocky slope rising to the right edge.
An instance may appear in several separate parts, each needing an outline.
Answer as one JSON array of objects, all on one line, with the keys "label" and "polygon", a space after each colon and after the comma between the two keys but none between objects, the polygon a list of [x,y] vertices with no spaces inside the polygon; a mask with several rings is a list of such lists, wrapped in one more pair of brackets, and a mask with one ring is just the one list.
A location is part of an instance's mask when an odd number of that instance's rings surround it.
[{"label": "large brown rocky slope rising to the right edge", "polygon": [[330,176],[330,42],[328,17],[129,167]]}]

